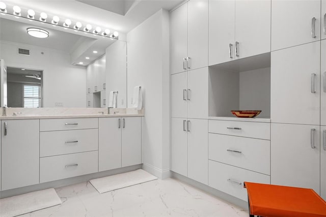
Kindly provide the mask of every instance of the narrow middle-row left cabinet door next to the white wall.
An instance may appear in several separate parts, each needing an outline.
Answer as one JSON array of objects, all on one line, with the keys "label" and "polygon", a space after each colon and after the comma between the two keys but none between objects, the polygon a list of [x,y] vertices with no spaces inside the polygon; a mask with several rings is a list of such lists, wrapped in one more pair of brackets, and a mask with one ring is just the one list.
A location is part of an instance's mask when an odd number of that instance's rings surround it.
[{"label": "narrow middle-row left cabinet door next to the white wall", "polygon": [[171,117],[187,117],[187,72],[171,75]]}]

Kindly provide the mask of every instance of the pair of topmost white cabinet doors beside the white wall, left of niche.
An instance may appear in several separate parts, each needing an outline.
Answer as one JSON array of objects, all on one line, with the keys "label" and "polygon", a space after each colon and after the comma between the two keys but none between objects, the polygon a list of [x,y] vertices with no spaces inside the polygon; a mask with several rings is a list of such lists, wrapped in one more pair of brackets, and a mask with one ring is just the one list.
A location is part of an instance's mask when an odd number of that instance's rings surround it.
[{"label": "pair of topmost white cabinet doors beside the white wall, left of niche", "polygon": [[188,1],[171,12],[171,74],[208,64],[208,1]]}]

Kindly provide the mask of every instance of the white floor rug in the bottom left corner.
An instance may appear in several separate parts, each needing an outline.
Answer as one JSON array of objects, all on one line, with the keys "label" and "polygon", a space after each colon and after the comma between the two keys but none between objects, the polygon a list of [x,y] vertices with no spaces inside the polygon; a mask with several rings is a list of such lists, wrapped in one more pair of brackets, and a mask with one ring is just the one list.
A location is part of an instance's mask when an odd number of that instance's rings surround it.
[{"label": "white floor rug in the bottom left corner", "polygon": [[16,216],[62,204],[55,188],[0,199],[0,216]]}]

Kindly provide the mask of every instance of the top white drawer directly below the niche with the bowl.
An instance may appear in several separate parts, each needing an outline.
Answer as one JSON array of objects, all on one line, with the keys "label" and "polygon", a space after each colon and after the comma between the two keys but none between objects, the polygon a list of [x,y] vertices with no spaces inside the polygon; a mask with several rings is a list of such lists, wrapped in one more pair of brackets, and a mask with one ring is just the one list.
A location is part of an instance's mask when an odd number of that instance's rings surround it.
[{"label": "top white drawer directly below the niche with the bowl", "polygon": [[270,123],[209,120],[208,131],[239,137],[270,140]]}]

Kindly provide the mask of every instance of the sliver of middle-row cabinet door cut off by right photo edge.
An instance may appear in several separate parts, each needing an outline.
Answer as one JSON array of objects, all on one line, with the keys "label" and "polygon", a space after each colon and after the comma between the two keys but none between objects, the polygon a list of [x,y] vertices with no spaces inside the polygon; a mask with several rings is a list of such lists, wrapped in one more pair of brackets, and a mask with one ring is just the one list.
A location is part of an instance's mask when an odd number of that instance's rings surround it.
[{"label": "sliver of middle-row cabinet door cut off by right photo edge", "polygon": [[[326,7],[326,5],[325,5]],[[326,125],[326,40],[321,41],[320,62],[320,124]]]}]

